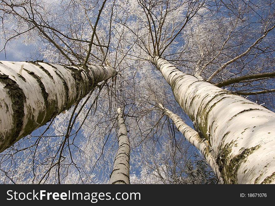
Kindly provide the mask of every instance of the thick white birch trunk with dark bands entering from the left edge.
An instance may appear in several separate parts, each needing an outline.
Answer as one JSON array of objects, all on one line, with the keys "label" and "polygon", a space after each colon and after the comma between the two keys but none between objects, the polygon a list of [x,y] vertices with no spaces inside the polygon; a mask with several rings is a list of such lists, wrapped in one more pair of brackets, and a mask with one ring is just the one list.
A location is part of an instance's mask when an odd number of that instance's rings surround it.
[{"label": "thick white birch trunk with dark bands entering from the left edge", "polygon": [[103,66],[0,61],[0,152],[115,75]]}]

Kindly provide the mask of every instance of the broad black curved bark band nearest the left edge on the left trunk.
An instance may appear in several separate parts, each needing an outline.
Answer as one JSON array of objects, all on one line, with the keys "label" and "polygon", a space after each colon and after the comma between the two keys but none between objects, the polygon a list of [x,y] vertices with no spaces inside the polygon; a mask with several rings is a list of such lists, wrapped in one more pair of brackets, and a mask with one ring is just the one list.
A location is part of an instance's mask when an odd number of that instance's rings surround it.
[{"label": "broad black curved bark band nearest the left edge on the left trunk", "polygon": [[19,133],[21,132],[24,119],[24,103],[26,102],[26,96],[19,87],[19,85],[6,74],[0,74],[0,82],[4,84],[4,89],[12,102],[12,129],[5,135],[4,142],[0,148],[0,152],[11,146],[17,141]]}]

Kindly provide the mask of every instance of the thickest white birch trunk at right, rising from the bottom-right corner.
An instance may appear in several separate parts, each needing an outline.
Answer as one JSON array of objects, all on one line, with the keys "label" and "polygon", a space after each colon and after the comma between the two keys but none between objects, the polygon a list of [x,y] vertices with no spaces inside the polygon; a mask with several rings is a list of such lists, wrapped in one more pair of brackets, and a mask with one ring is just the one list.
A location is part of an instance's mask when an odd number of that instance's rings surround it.
[{"label": "thickest white birch trunk at right, rising from the bottom-right corner", "polygon": [[151,61],[212,147],[224,183],[275,183],[275,113],[199,81],[163,58]]}]

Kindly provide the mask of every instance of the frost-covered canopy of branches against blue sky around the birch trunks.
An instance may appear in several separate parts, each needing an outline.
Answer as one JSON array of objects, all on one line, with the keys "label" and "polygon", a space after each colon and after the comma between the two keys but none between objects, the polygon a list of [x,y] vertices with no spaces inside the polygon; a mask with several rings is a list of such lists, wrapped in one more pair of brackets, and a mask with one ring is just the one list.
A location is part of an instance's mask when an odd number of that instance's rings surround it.
[{"label": "frost-covered canopy of branches against blue sky around the birch trunks", "polygon": [[165,113],[202,133],[151,60],[274,112],[274,9],[269,0],[3,0],[7,56],[17,41],[34,45],[26,61],[102,65],[117,75],[2,152],[0,182],[108,183],[121,108],[130,183],[217,183]]}]

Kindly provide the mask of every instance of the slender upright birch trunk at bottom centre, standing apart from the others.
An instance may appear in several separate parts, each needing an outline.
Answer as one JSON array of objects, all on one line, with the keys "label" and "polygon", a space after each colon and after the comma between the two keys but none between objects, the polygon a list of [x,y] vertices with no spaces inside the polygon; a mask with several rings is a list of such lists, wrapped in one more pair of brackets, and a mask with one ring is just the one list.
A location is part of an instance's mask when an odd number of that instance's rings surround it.
[{"label": "slender upright birch trunk at bottom centre, standing apart from the others", "polygon": [[121,108],[118,108],[118,127],[118,152],[114,161],[114,168],[110,176],[109,184],[130,184],[130,142],[127,137],[127,129]]}]

